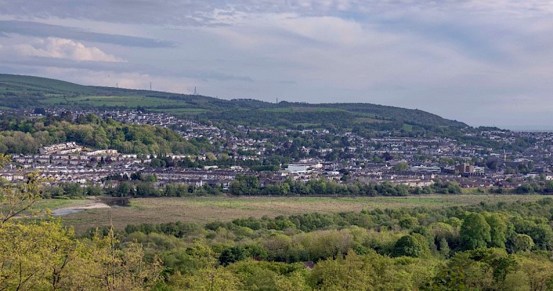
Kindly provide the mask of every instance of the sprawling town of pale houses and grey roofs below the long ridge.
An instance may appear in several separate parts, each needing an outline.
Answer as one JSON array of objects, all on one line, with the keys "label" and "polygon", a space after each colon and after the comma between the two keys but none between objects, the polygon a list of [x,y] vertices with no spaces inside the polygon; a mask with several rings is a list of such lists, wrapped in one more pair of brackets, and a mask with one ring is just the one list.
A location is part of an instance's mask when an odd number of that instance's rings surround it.
[{"label": "sprawling town of pale houses and grey roofs below the long ridge", "polygon": [[[50,109],[46,114],[63,111]],[[36,117],[32,110],[3,111]],[[82,144],[50,144],[34,155],[12,156],[12,163],[0,170],[8,181],[24,178],[26,171],[38,170],[51,184],[74,182],[101,185],[113,176],[130,177],[140,172],[155,175],[157,185],[187,183],[227,188],[238,175],[256,175],[261,185],[287,178],[312,180],[328,178],[340,183],[390,182],[424,187],[436,180],[456,182],[462,188],[516,188],[532,180],[552,180],[553,133],[503,130],[466,133],[463,138],[512,144],[507,149],[471,145],[466,140],[444,137],[365,138],[357,133],[330,133],[323,129],[269,129],[253,126],[218,126],[210,122],[179,118],[168,113],[141,111],[71,111],[94,114],[118,122],[149,124],[173,129],[187,140],[207,138],[216,147],[197,156],[144,156],[118,153],[114,149],[88,149]],[[521,140],[526,144],[520,146]],[[277,156],[277,168],[268,161]],[[156,160],[196,162],[197,167],[160,167]],[[222,159],[232,159],[221,164]],[[258,166],[258,167],[253,167]],[[255,169],[257,168],[257,169]]]}]

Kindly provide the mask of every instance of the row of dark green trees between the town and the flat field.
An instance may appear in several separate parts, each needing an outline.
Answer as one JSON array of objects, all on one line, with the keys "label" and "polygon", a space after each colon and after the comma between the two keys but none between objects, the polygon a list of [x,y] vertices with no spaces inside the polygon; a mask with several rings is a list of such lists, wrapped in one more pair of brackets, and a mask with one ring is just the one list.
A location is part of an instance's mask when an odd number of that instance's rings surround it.
[{"label": "row of dark green trees between the town and the flat field", "polygon": [[395,185],[391,182],[359,181],[341,184],[327,178],[308,181],[287,178],[284,182],[272,185],[259,184],[259,177],[254,175],[238,175],[228,188],[222,184],[192,185],[185,182],[173,182],[157,185],[157,177],[137,172],[126,176],[109,176],[103,179],[104,186],[82,185],[73,182],[60,182],[41,189],[43,198],[82,198],[84,196],[113,197],[182,197],[182,196],[218,196],[231,194],[236,196],[409,196],[418,194],[460,194],[461,189],[456,182],[442,183],[437,180],[427,187],[409,187]]}]

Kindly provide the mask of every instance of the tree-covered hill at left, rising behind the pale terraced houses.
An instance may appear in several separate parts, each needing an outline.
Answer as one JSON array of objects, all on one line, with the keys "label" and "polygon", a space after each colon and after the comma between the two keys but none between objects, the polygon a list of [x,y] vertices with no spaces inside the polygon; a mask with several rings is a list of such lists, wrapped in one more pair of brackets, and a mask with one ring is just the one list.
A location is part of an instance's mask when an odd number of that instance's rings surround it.
[{"label": "tree-covered hill at left, rising behind the pale terraced houses", "polygon": [[35,154],[39,147],[60,142],[77,142],[92,149],[117,149],[120,153],[158,155],[197,154],[212,150],[207,140],[186,140],[160,126],[122,124],[96,115],[73,117],[66,112],[43,118],[0,117],[0,153]]}]

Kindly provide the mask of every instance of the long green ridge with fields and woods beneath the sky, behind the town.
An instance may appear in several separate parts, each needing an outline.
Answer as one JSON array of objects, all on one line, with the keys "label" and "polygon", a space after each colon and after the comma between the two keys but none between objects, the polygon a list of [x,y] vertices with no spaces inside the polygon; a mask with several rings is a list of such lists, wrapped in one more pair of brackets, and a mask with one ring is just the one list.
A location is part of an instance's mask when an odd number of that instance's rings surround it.
[{"label": "long green ridge with fields and woods beneath the sky, behind the town", "polygon": [[467,124],[420,110],[366,103],[308,104],[259,100],[221,100],[200,95],[82,86],[23,75],[0,74],[0,107],[136,109],[187,115],[199,120],[304,129],[434,131]]}]

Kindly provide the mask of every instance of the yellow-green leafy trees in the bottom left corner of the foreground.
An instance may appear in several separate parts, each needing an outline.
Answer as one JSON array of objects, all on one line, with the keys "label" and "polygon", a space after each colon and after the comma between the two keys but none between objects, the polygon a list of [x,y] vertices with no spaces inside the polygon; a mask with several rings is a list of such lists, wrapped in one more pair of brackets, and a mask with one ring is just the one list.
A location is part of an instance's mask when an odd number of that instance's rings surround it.
[{"label": "yellow-green leafy trees in the bottom left corner of the foreground", "polygon": [[91,240],[79,240],[61,220],[29,212],[39,192],[37,173],[0,190],[1,289],[134,290],[158,282],[157,257],[144,263],[144,249],[138,244],[116,249],[113,228],[108,236],[96,231]]}]

